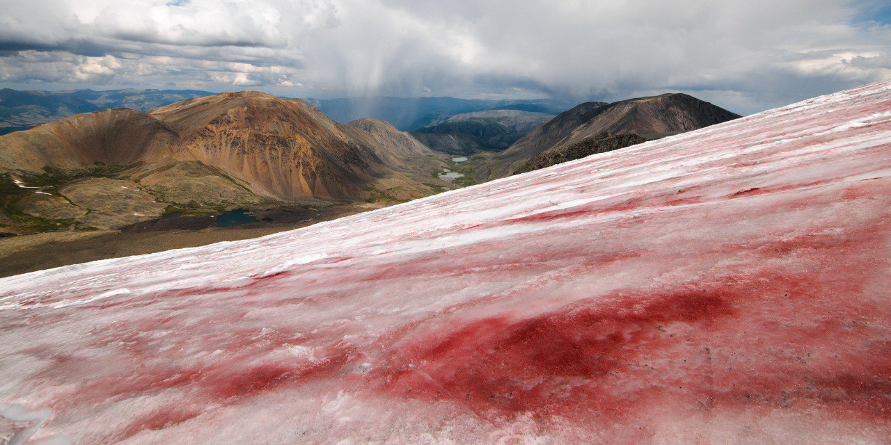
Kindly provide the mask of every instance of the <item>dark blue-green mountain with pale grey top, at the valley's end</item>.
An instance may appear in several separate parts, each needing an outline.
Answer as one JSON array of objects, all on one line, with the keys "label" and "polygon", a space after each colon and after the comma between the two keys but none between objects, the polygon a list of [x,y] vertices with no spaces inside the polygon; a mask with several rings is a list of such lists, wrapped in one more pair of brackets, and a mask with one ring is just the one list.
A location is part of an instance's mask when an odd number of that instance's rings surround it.
[{"label": "dark blue-green mountain with pale grey top, at the valley's end", "polygon": [[504,150],[553,117],[517,109],[489,109],[455,115],[412,134],[433,150],[472,154],[478,150]]}]

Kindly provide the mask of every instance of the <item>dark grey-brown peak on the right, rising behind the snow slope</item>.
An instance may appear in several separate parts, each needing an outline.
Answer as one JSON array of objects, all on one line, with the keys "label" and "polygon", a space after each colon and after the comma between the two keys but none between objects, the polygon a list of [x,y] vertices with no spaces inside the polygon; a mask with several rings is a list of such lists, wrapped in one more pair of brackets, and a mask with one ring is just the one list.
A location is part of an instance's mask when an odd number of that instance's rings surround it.
[{"label": "dark grey-brown peak on the right, rising behind the snow slope", "polygon": [[584,138],[609,134],[638,134],[658,139],[715,125],[740,117],[707,101],[683,93],[617,101],[582,103],[554,117],[511,148],[496,154],[482,175],[498,178],[511,174],[538,153]]}]

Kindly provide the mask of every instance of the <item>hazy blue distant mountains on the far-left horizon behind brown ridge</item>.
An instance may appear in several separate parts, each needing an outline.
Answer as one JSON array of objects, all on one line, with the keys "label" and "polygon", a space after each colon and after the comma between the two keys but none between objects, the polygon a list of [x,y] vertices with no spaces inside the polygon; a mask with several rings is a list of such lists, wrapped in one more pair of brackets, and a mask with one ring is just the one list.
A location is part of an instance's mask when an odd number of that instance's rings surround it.
[{"label": "hazy blue distant mountains on the far-left horizon behind brown ridge", "polygon": [[149,111],[176,101],[213,93],[198,90],[0,90],[0,134],[27,130],[62,117],[98,109],[127,107]]}]

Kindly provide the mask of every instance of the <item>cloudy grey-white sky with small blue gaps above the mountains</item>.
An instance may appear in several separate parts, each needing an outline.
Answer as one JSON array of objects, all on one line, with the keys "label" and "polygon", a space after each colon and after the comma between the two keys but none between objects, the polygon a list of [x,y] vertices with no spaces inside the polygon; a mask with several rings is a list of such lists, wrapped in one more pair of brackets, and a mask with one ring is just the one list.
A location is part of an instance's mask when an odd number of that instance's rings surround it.
[{"label": "cloudy grey-white sky with small blue gaps above the mountains", "polygon": [[0,0],[0,87],[617,101],[891,79],[891,0]]}]

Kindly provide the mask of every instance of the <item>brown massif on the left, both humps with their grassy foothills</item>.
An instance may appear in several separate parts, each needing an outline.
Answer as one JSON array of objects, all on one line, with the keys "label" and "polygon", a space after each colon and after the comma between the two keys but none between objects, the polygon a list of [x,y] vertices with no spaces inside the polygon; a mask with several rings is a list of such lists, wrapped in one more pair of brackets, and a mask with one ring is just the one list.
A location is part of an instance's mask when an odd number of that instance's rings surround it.
[{"label": "brown massif on the left, both humps with their grassy foothills", "polygon": [[0,223],[108,229],[294,198],[402,201],[450,187],[431,177],[444,158],[391,125],[341,125],[266,93],[103,109],[0,136],[0,182],[14,191]]}]

